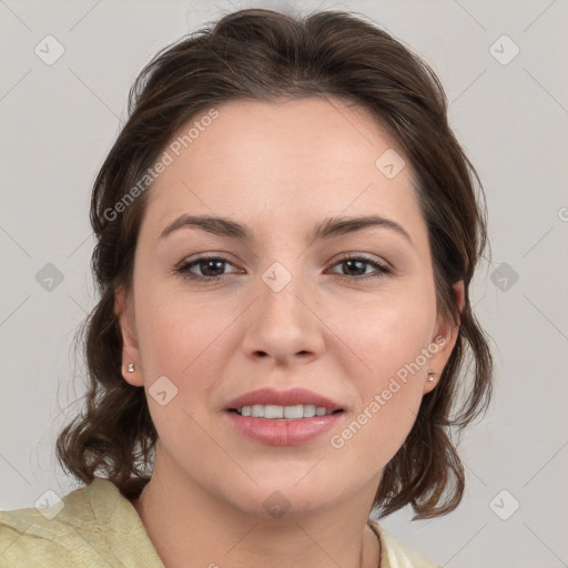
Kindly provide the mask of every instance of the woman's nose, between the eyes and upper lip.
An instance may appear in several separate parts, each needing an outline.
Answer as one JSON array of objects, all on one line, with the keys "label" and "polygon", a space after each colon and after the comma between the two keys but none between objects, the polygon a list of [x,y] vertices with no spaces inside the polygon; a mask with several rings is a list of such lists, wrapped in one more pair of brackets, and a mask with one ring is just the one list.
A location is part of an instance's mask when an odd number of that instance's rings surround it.
[{"label": "woman's nose, between the eyes and upper lip", "polygon": [[[268,284],[266,284],[268,282]],[[278,365],[317,358],[325,345],[325,325],[318,315],[317,291],[293,275],[282,288],[260,278],[258,296],[244,322],[243,348],[247,357],[271,358]]]}]

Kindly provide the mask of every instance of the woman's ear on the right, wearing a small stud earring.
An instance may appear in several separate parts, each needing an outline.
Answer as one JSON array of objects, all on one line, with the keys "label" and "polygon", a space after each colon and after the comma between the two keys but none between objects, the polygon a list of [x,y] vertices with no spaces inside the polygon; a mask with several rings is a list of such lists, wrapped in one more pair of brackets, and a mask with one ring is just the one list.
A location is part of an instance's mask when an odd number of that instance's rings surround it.
[{"label": "woman's ear on the right, wearing a small stud earring", "polygon": [[456,284],[452,286],[452,290],[459,310],[459,314],[456,314],[457,323],[454,323],[454,320],[452,318],[450,315],[440,316],[438,318],[436,331],[434,333],[434,336],[432,337],[430,345],[428,346],[428,351],[434,352],[436,346],[437,351],[429,358],[426,369],[433,369],[435,372],[434,381],[427,381],[427,374],[425,375],[424,394],[433,390],[438,384],[442,372],[444,371],[444,367],[446,366],[446,363],[448,362],[449,356],[452,355],[452,352],[454,349],[454,346],[456,345],[456,341],[459,334],[459,316],[464,308],[465,301],[464,281],[460,280],[456,282]]}]

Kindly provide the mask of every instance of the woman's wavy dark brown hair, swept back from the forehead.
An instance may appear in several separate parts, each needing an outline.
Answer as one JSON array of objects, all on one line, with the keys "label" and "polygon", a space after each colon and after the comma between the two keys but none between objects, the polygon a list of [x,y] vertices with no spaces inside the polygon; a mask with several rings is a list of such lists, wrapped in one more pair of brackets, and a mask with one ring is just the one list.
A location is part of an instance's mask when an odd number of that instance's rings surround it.
[{"label": "woman's wavy dark brown hair, swept back from the forehead", "polygon": [[[483,187],[447,121],[444,90],[432,71],[388,33],[347,12],[292,17],[246,9],[164,48],[142,70],[129,97],[129,119],[94,182],[92,255],[100,301],[84,323],[89,371],[85,408],[59,435],[62,466],[83,483],[101,471],[129,498],[149,480],[155,449],[144,389],[121,373],[115,293],[131,290],[133,258],[148,191],[132,192],[172,135],[197,113],[226,101],[333,97],[367,110],[399,144],[416,174],[428,229],[438,314],[459,323],[438,385],[423,397],[412,432],[387,464],[375,496],[384,516],[412,505],[415,518],[457,507],[464,467],[452,442],[486,408],[493,362],[469,303],[474,268],[485,248]],[[128,206],[126,194],[141,193]],[[121,201],[122,200],[122,201]],[[485,196],[484,196],[485,206]],[[458,306],[452,285],[464,280]],[[469,355],[474,368],[460,369]],[[469,366],[468,366],[469,368]]]}]

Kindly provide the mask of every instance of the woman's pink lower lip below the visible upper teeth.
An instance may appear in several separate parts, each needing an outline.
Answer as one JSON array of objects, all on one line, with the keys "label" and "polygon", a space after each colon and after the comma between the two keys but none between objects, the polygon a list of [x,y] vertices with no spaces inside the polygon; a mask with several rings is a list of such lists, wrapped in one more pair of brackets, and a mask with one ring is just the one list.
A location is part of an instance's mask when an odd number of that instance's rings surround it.
[{"label": "woman's pink lower lip below the visible upper teeth", "polygon": [[333,428],[344,413],[298,419],[253,418],[234,412],[226,414],[236,430],[247,438],[271,446],[295,446],[317,438]]}]

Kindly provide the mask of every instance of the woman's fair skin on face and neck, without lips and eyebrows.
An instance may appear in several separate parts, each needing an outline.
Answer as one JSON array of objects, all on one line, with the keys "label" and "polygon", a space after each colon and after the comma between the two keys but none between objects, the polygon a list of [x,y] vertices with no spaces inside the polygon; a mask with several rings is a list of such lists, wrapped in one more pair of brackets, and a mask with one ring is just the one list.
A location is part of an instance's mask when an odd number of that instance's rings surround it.
[{"label": "woman's fair skin on face and neck, without lips and eyebrows", "polygon": [[[124,379],[146,389],[159,433],[152,480],[132,504],[168,568],[275,568],[283,559],[297,567],[332,560],[376,567],[379,542],[366,521],[383,468],[423,395],[436,387],[458,332],[436,314],[409,162],[387,179],[375,161],[396,144],[365,111],[335,99],[234,101],[217,110],[148,190],[132,293],[116,295]],[[253,240],[194,227],[160,239],[183,213],[239,221]],[[402,225],[412,242],[384,226],[306,237],[326,217],[371,213]],[[223,280],[194,282],[173,272],[203,253],[229,263],[192,272]],[[339,262],[344,253],[365,254],[394,273],[368,264],[349,272]],[[262,280],[274,262],[292,274],[280,292]],[[463,283],[454,292],[462,305]],[[440,336],[445,345],[334,448],[331,436]],[[131,362],[135,372],[126,373]],[[148,390],[160,376],[178,388],[163,406]],[[306,444],[252,442],[232,428],[223,406],[264,386],[310,388],[345,412],[336,428]],[[275,490],[290,505],[277,519],[263,507]]]}]

